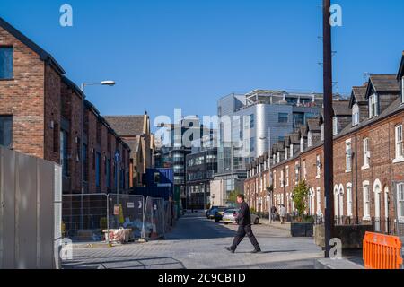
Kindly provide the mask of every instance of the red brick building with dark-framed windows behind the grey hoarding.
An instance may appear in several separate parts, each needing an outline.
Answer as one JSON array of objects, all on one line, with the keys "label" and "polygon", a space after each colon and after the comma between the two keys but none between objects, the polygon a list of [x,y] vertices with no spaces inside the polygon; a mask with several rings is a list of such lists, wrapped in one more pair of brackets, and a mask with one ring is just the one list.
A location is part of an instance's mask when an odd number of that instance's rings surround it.
[{"label": "red brick building with dark-framed windows behind the grey hoarding", "polygon": [[[0,144],[63,167],[64,193],[128,189],[130,149],[46,51],[0,18]],[[119,167],[114,161],[121,155]]]}]

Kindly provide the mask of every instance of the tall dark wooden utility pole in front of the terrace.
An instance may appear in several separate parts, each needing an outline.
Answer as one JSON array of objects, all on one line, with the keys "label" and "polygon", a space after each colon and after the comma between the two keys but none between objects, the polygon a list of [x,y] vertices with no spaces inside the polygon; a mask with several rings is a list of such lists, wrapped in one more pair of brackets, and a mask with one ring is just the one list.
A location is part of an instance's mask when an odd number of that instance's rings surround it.
[{"label": "tall dark wooden utility pole in front of the terrace", "polygon": [[325,257],[329,258],[329,240],[334,230],[333,194],[333,138],[332,138],[332,46],[329,11],[330,0],[323,0],[323,67],[324,67],[324,191],[325,206]]}]

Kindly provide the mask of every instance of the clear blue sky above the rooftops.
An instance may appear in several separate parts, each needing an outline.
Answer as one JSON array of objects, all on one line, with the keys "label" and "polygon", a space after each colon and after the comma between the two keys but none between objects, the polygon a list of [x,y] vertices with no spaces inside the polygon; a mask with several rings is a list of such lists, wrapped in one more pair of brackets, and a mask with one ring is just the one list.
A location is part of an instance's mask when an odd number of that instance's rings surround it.
[{"label": "clear blue sky above the rooftops", "polygon": [[[71,4],[74,27],[59,25]],[[397,73],[402,0],[340,0],[334,80],[349,92],[364,72]],[[89,87],[104,115],[213,115],[216,100],[253,89],[322,91],[321,0],[9,0],[0,15]]]}]

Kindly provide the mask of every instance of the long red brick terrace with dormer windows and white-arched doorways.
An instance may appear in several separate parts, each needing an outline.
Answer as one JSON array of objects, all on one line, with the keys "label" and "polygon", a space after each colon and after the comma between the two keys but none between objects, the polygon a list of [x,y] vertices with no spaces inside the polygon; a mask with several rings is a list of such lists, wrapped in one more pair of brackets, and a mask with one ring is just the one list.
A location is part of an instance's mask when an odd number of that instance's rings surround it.
[{"label": "long red brick terrace with dormer windows and white-arched doorways", "polygon": [[[373,74],[364,86],[353,88],[350,100],[334,102],[333,193],[338,223],[373,222],[381,232],[397,231],[395,223],[404,223],[403,76],[404,54],[399,74]],[[250,165],[245,190],[252,207],[257,209],[264,200],[259,191],[271,187],[274,204],[285,204],[293,213],[291,196],[304,179],[311,188],[307,213],[324,213],[322,133],[321,114],[273,146],[265,156],[271,164],[265,172],[259,172],[264,167],[259,160]],[[264,175],[270,180],[257,189],[254,185]]]}]

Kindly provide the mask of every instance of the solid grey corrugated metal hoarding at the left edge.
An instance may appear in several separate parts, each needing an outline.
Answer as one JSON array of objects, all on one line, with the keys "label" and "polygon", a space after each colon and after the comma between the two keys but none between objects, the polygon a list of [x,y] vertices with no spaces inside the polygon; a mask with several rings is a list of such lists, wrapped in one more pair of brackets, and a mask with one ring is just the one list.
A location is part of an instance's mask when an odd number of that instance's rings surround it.
[{"label": "solid grey corrugated metal hoarding at the left edge", "polygon": [[55,163],[0,147],[0,265],[56,268]]}]

